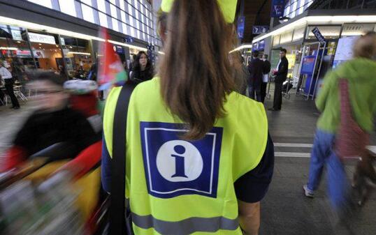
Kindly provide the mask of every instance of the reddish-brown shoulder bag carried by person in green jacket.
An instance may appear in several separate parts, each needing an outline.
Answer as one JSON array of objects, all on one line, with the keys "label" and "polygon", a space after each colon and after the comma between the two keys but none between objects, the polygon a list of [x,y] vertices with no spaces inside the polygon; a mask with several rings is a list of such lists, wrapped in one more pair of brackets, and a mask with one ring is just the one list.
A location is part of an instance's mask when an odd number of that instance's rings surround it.
[{"label": "reddish-brown shoulder bag carried by person in green jacket", "polygon": [[366,153],[370,135],[364,131],[352,116],[347,79],[340,79],[340,126],[335,137],[335,153],[345,158],[359,158]]}]

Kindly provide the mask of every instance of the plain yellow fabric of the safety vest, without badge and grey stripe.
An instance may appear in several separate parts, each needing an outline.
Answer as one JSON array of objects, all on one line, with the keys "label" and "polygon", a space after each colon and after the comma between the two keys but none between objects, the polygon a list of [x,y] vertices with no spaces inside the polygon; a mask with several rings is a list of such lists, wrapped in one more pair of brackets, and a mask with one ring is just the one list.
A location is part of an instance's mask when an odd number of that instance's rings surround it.
[{"label": "plain yellow fabric of the safety vest, without badge and grey stripe", "polygon": [[[110,156],[113,143],[113,117],[121,88],[114,88],[107,98],[103,133]],[[223,128],[219,158],[217,197],[180,195],[168,199],[154,197],[147,190],[140,121],[181,123],[164,105],[159,90],[159,78],[139,84],[129,103],[126,132],[126,197],[130,197],[131,211],[138,215],[150,215],[166,221],[186,218],[213,218],[223,216],[238,218],[238,203],[233,183],[259,164],[266,149],[268,122],[261,103],[233,92],[224,104],[227,115],[218,119],[215,127]],[[135,226],[136,235],[158,234],[154,229]],[[196,235],[208,234],[195,233]],[[220,230],[214,234],[241,234]]]}]

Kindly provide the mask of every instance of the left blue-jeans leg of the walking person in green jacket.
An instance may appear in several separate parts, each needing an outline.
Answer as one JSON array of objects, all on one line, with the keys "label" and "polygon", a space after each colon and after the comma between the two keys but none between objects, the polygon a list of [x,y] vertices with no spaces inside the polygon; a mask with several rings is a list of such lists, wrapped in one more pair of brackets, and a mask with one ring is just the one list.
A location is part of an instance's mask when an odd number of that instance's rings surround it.
[{"label": "left blue-jeans leg of the walking person in green jacket", "polygon": [[[330,143],[328,143],[328,141]],[[324,163],[330,154],[331,142],[332,140],[328,134],[321,132],[321,130],[316,131],[311,154],[310,173],[307,183],[307,188],[308,190],[312,191],[312,193],[314,190],[317,190],[317,187],[321,181]]]}]

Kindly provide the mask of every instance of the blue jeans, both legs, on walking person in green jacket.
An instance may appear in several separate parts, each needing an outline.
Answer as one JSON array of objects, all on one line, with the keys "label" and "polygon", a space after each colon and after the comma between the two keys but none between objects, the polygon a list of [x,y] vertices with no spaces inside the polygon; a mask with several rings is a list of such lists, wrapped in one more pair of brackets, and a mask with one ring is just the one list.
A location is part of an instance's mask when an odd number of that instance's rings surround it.
[{"label": "blue jeans, both legs, on walking person in green jacket", "polygon": [[310,162],[308,189],[316,190],[321,180],[322,170],[326,165],[328,174],[328,195],[334,209],[340,209],[347,203],[349,182],[340,158],[335,155],[332,147],[335,135],[317,129],[314,137]]}]

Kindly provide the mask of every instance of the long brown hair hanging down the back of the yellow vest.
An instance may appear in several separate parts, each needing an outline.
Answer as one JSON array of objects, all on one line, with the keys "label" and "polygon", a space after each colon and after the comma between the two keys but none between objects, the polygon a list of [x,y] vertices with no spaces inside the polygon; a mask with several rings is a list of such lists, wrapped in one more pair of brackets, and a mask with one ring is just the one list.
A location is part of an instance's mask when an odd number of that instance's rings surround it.
[{"label": "long brown hair hanging down the back of the yellow vest", "polygon": [[167,107],[189,125],[183,138],[201,139],[224,116],[234,86],[230,47],[231,26],[217,0],[175,0],[159,75]]}]

